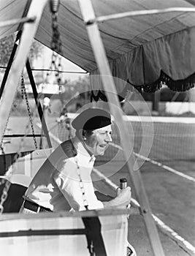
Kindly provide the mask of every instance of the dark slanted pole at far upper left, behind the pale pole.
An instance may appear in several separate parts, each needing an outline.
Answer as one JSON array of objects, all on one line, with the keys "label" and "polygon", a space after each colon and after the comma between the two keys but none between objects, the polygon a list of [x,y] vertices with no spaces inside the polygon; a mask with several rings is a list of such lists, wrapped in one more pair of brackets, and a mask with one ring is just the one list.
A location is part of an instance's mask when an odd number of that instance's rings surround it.
[{"label": "dark slanted pole at far upper left, behind the pale pole", "polygon": [[[22,18],[23,18],[23,17],[26,17],[27,12],[28,12],[29,7],[30,7],[30,4],[31,4],[31,0],[28,0],[28,1],[26,2],[26,7],[24,8]],[[5,86],[5,83],[6,83],[6,81],[7,81],[7,77],[8,77],[8,75],[9,75],[9,70],[10,70],[10,68],[11,68],[11,66],[12,66],[12,62],[13,62],[13,59],[14,59],[14,57],[15,57],[15,52],[16,52],[16,50],[17,50],[17,48],[18,48],[18,40],[20,40],[20,37],[21,37],[21,34],[22,34],[22,28],[23,28],[23,23],[20,23],[20,24],[18,25],[18,29],[17,29],[18,34],[17,34],[17,36],[16,36],[15,43],[14,43],[14,46],[13,46],[13,48],[12,48],[12,53],[11,53],[11,55],[10,55],[10,57],[9,57],[9,61],[8,61],[8,64],[7,64],[7,69],[6,69],[5,72],[4,72],[4,78],[3,78],[2,83],[1,83],[0,99],[1,99],[1,96],[2,96],[3,91],[4,91],[4,86]]]}]

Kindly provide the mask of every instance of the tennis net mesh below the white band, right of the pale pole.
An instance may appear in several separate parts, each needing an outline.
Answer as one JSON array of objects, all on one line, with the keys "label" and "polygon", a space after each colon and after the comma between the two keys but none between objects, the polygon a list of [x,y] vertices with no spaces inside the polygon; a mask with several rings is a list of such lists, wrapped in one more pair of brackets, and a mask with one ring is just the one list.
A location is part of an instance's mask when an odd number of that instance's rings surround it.
[{"label": "tennis net mesh below the white band, right of the pale pole", "polygon": [[[142,140],[142,128],[139,122],[133,122],[134,152],[139,153]],[[148,122],[142,126],[148,125]],[[150,135],[145,135],[145,137]],[[149,137],[146,139],[150,139]],[[194,159],[195,124],[183,122],[153,122],[153,143],[148,157],[156,160]],[[147,156],[145,156],[147,157]]]}]

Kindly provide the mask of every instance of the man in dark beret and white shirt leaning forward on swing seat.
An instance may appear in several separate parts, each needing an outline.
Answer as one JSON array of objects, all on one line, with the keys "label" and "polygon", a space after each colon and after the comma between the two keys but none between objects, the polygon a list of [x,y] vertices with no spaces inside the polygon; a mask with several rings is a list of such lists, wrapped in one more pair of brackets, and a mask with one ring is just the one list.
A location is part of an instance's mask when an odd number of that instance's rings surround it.
[{"label": "man in dark beret and white shirt leaning forward on swing seat", "polygon": [[107,202],[98,200],[93,189],[91,171],[97,155],[104,155],[112,141],[111,116],[107,111],[84,110],[72,121],[76,130],[47,158],[26,190],[20,212],[84,211],[110,206],[125,207],[131,200],[127,187]]}]

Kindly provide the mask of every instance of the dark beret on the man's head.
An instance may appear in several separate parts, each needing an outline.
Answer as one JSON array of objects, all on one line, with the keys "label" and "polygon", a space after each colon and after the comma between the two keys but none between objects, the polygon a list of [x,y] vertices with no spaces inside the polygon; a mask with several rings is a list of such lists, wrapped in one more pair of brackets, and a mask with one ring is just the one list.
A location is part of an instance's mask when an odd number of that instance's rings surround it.
[{"label": "dark beret on the man's head", "polygon": [[88,108],[80,113],[72,121],[74,129],[99,129],[111,124],[111,116],[105,110],[99,108]]}]

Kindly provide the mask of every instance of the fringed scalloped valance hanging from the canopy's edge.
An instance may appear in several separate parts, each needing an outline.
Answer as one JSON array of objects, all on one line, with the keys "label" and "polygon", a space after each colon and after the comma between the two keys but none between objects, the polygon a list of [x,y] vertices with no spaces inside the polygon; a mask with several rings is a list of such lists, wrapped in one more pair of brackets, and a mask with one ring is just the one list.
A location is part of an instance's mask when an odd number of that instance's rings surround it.
[{"label": "fringed scalloped valance hanging from the canopy's edge", "polygon": [[[138,91],[155,92],[162,84],[172,91],[186,91],[195,85],[195,27],[148,42],[110,61],[112,75],[127,81]],[[98,69],[91,75],[98,77]],[[103,90],[92,80],[92,90]],[[121,85],[121,83],[120,83]],[[118,93],[126,83],[116,85]]]}]

